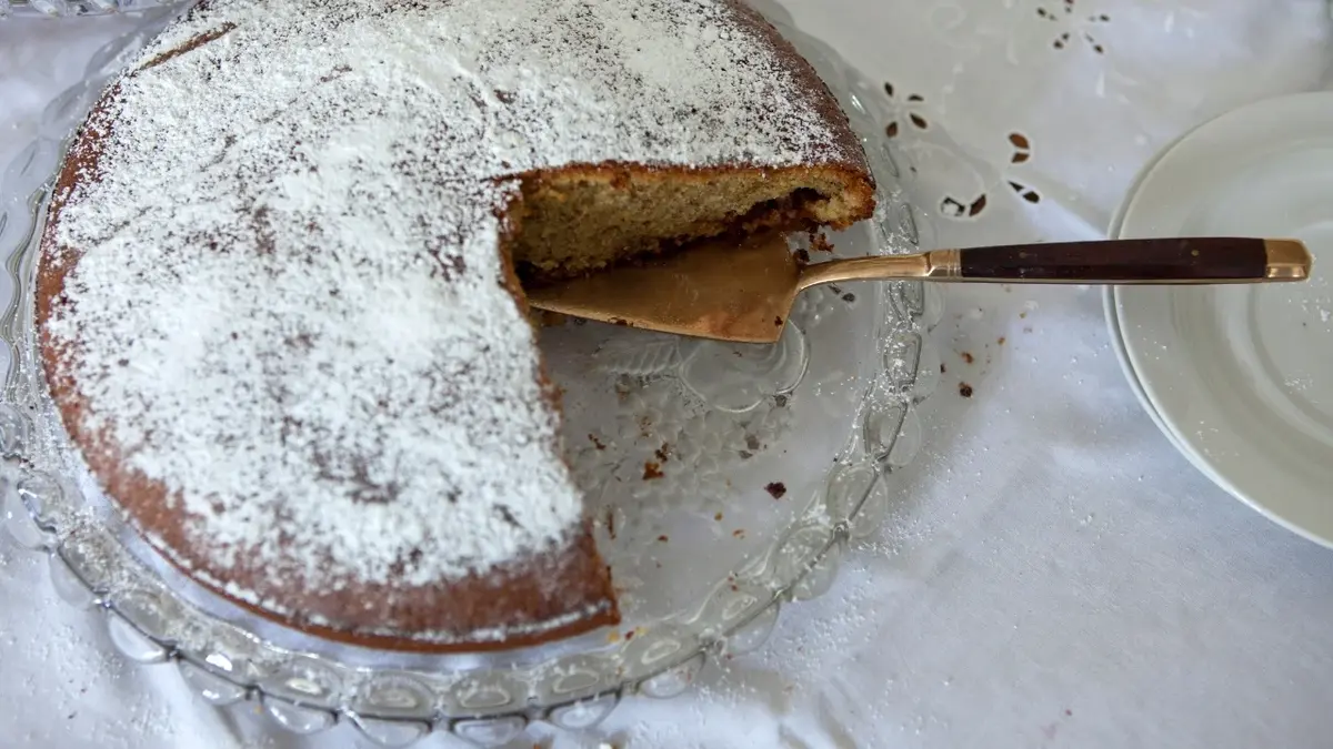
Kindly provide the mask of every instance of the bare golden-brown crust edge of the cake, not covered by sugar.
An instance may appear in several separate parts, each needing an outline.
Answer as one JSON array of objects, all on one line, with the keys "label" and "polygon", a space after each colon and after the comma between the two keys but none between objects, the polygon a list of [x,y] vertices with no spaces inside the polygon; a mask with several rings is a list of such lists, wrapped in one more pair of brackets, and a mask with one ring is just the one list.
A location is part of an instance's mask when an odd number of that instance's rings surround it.
[{"label": "bare golden-brown crust edge of the cake, not covered by sugar", "polygon": [[[748,27],[766,40],[785,69],[800,81],[802,95],[818,103],[824,124],[833,133],[828,153],[837,156],[817,164],[784,168],[822,172],[844,181],[845,199],[852,208],[844,220],[833,224],[868,217],[873,208],[873,180],[860,141],[836,100],[813,69],[757,12],[741,3],[729,5],[734,9],[737,27]],[[196,13],[207,7],[207,3],[203,4]],[[157,55],[147,67],[168,64],[177,53],[189,53],[221,39],[227,31],[211,32],[208,39],[192,39],[179,51]],[[192,538],[188,525],[197,518],[181,508],[167,484],[131,466],[131,456],[115,434],[108,428],[93,426],[93,420],[88,418],[92,404],[79,380],[84,343],[52,333],[52,321],[71,307],[67,283],[84,256],[84,248],[60,240],[61,221],[72,196],[96,183],[103,173],[104,144],[117,127],[111,116],[117,97],[116,87],[105,93],[73,139],[59,175],[41,241],[36,323],[47,381],[73,444],[107,494],[149,542],[200,584],[261,616],[320,637],[373,648],[419,652],[513,648],[617,622],[611,574],[596,552],[587,522],[548,550],[493,565],[483,573],[428,585],[408,585],[396,580],[348,580],[337,588],[308,585],[303,580],[301,565],[275,569],[273,560],[241,557],[224,566]],[[742,163],[730,167],[573,164],[532,171],[528,177],[540,180],[552,175],[600,173],[605,169],[694,180],[716,169],[764,172],[774,168]],[[519,200],[517,193],[511,199]],[[507,224],[501,221],[501,225]],[[521,307],[517,280],[507,257],[503,276],[503,283]],[[544,386],[543,390],[549,394],[551,388]],[[285,540],[280,542],[287,544]]]}]

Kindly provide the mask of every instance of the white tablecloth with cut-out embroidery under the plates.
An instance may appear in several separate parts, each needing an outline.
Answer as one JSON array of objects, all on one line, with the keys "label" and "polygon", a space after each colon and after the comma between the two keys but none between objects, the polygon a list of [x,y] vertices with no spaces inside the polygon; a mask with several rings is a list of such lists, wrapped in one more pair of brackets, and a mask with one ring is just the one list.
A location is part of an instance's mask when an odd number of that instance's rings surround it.
[{"label": "white tablecloth with cut-out embroidery under the plates", "polygon": [[[942,247],[1097,236],[1156,149],[1324,87],[1333,59],[1324,0],[786,5],[890,84]],[[0,165],[127,23],[0,23]],[[1330,745],[1333,552],[1170,448],[1117,368],[1098,292],[949,289],[934,339],[948,372],[926,446],[832,593],[685,697],[515,746]],[[0,746],[344,745],[345,726],[295,740],[252,705],[204,705],[172,666],[123,664],[36,557],[0,548]]]}]

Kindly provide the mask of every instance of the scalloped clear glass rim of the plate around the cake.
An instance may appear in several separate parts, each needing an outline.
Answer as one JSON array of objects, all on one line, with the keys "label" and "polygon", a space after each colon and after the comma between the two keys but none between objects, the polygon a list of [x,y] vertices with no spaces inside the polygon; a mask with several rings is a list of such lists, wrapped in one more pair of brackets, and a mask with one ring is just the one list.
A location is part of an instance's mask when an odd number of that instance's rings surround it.
[{"label": "scalloped clear glass rim of the plate around the cake", "polygon": [[[828,45],[793,29],[766,0],[754,0],[818,69],[840,96],[862,136],[880,180],[880,208],[869,223],[882,252],[909,251],[929,225],[904,200],[898,168],[880,137],[876,88]],[[164,19],[108,44],[89,64],[84,84],[59,96],[43,117],[44,132],[72,132],[101,83],[140,47]],[[884,477],[905,465],[920,446],[914,406],[937,382],[937,356],[924,329],[940,316],[937,292],[921,283],[881,285],[878,321],[882,371],[865,388],[854,429],[826,476],[825,490],[744,569],[721,580],[689,616],[663,622],[619,646],[563,646],[516,650],[507,661],[439,658],[432,669],[384,670],[335,657],[292,652],[252,632],[203,613],[175,593],[127,548],[107,518],[89,518],[69,497],[80,488],[68,470],[52,470],[64,444],[59,417],[45,396],[36,365],[32,280],[36,239],[51,176],[67,145],[45,139],[20,153],[0,175],[0,252],[15,284],[15,299],[0,316],[11,363],[0,402],[0,454],[5,457],[0,520],[20,545],[49,554],[52,584],[71,604],[97,606],[111,638],[139,662],[173,660],[187,681],[215,704],[259,698],[280,725],[312,733],[339,718],[351,720],[384,745],[401,745],[431,729],[473,741],[503,744],[531,720],[580,729],[604,718],[621,696],[672,697],[685,690],[710,656],[744,653],[762,645],[785,601],[808,600],[832,584],[850,538],[872,533],[888,514]],[[532,662],[535,654],[545,660]],[[423,730],[424,729],[424,730]]]}]

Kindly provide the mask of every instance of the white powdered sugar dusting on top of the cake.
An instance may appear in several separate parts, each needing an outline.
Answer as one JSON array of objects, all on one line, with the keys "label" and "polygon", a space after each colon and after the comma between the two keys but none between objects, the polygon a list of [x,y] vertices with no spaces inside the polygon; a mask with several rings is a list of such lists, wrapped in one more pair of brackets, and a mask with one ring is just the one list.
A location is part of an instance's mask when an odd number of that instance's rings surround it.
[{"label": "white powdered sugar dusting on top of the cake", "polygon": [[56,228],[88,428],[223,568],[416,586],[559,544],[581,506],[503,288],[508,177],[846,159],[734,13],[209,3],[120,81]]}]

